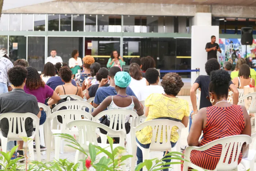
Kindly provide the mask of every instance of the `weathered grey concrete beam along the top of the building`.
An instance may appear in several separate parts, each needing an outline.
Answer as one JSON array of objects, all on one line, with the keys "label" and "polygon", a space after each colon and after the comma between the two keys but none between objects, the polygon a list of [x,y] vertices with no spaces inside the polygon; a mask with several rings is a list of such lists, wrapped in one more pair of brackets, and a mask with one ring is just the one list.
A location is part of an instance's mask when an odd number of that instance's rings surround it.
[{"label": "weathered grey concrete beam along the top of the building", "polygon": [[60,13],[105,15],[194,16],[211,12],[212,16],[256,18],[256,7],[220,5],[178,5],[150,3],[102,3],[51,1],[3,10],[4,13]]}]

